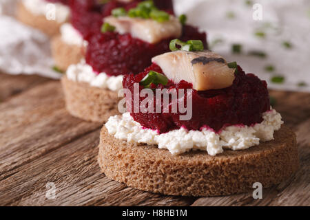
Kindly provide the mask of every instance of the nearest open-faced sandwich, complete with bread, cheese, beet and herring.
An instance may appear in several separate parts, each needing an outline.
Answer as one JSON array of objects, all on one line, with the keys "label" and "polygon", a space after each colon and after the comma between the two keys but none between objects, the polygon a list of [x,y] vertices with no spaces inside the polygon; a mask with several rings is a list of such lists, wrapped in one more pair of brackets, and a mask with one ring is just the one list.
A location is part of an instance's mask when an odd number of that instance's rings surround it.
[{"label": "nearest open-faced sandwich, complete with bread, cheese, beet and herring", "polygon": [[215,196],[278,184],[298,169],[296,135],[267,83],[199,41],[170,43],[123,78],[127,113],[101,131],[107,177],[165,195]]}]

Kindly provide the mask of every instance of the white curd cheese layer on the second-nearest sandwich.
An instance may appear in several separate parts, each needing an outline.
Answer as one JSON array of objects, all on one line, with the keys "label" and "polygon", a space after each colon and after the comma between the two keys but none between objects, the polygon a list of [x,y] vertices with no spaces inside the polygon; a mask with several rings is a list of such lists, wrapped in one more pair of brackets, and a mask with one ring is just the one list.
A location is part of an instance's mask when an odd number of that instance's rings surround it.
[{"label": "white curd cheese layer on the second-nearest sandwich", "polygon": [[101,89],[110,89],[118,91],[123,88],[123,75],[108,76],[105,73],[96,74],[90,65],[85,61],[78,64],[72,64],[67,69],[68,79],[75,82],[89,83],[92,87]]}]

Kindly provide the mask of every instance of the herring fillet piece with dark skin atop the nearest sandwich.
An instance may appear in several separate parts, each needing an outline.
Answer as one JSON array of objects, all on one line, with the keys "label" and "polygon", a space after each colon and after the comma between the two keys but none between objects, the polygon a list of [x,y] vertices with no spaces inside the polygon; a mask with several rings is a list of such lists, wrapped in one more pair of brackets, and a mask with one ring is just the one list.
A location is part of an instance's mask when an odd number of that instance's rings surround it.
[{"label": "herring fillet piece with dark skin atop the nearest sandwich", "polygon": [[152,58],[164,74],[174,83],[185,80],[193,84],[193,89],[223,89],[230,87],[235,79],[235,69],[229,68],[225,59],[211,52],[187,52],[178,50]]}]

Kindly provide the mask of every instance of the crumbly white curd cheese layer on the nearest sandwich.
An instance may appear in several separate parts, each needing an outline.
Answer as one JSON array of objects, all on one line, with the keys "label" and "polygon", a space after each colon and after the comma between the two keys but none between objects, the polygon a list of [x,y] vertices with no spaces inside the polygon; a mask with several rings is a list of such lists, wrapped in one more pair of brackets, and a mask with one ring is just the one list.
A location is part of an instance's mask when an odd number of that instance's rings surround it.
[{"label": "crumbly white curd cheese layer on the nearest sandwich", "polygon": [[144,129],[141,124],[134,121],[130,113],[123,113],[110,117],[105,127],[110,135],[119,140],[158,145],[158,148],[167,148],[173,155],[198,149],[214,156],[223,153],[223,148],[243,150],[258,145],[260,141],[273,140],[273,132],[280,129],[283,124],[281,115],[271,109],[263,113],[262,118],[264,120],[254,126],[227,126],[220,133],[207,128],[202,131],[187,131],[180,128],[159,134],[152,129]]}]

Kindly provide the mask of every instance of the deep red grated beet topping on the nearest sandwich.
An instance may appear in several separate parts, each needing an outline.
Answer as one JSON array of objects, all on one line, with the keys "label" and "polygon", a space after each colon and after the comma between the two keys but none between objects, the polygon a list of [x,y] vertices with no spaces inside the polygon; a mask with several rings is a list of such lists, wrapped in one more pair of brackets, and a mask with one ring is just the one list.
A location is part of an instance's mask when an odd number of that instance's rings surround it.
[{"label": "deep red grated beet topping on the nearest sandwich", "polygon": [[[133,94],[134,83],[139,83],[150,70],[163,73],[158,65],[152,64],[144,72],[136,76],[133,74],[124,76],[123,87],[130,89]],[[164,87],[158,85],[156,88],[163,89]],[[169,81],[165,88],[176,88],[177,91],[178,89],[192,89],[192,84],[183,80],[175,85],[172,81]],[[140,87],[141,89],[143,87]],[[127,101],[133,103],[133,98],[126,98]],[[140,98],[139,102],[141,103],[144,99]],[[134,105],[132,104],[132,106]],[[131,115],[136,122],[139,122],[144,127],[158,130],[160,133],[179,129],[181,126],[188,130],[200,130],[203,126],[209,126],[215,131],[220,131],[229,124],[250,126],[262,122],[262,113],[270,109],[267,83],[254,74],[245,74],[238,67],[238,74],[236,74],[236,79],[231,87],[209,91],[193,90],[192,106],[192,119],[187,121],[179,120],[180,113],[133,113],[131,111]],[[169,112],[171,112],[171,109]]]}]

